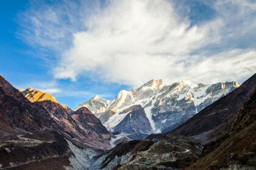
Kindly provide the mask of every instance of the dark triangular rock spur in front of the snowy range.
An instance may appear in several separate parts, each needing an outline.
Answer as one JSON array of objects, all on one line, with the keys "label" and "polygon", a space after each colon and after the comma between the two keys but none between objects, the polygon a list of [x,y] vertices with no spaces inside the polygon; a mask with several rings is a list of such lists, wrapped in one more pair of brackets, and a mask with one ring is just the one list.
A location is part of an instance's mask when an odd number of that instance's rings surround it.
[{"label": "dark triangular rock spur in front of the snowy range", "polygon": [[114,132],[126,132],[128,134],[151,132],[151,126],[144,109],[140,105],[129,108],[130,111],[124,119],[115,126]]}]

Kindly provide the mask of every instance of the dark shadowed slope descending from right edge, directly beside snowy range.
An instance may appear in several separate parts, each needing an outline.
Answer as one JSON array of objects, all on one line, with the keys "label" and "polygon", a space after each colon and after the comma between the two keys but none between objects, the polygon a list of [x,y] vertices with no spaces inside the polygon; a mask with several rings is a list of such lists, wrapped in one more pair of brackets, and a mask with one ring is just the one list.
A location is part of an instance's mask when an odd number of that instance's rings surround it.
[{"label": "dark shadowed slope descending from right edge, directly beside snowy range", "polygon": [[[208,137],[215,138],[232,124],[236,113],[256,89],[256,74],[246,80],[240,87],[233,90],[215,103],[201,110],[190,120],[177,127],[173,132],[185,136],[199,135],[212,131]],[[214,130],[214,131],[213,131]]]}]

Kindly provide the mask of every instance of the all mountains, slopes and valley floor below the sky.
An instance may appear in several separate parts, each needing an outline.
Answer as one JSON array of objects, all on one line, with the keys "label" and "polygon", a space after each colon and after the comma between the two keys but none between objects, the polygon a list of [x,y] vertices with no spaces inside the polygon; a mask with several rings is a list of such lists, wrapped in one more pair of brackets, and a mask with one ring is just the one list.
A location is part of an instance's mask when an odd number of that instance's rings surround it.
[{"label": "all mountains, slopes and valley floor below the sky", "polygon": [[255,97],[256,74],[151,80],[71,110],[0,76],[0,169],[255,169]]}]

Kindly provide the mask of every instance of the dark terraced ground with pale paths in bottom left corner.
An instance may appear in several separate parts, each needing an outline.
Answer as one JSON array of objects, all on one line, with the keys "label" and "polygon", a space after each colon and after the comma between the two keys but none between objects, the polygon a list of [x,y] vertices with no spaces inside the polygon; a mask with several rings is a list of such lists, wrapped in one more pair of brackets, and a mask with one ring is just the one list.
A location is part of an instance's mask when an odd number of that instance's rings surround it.
[{"label": "dark terraced ground with pale paths in bottom left corner", "polygon": [[41,131],[18,135],[0,143],[0,169],[64,169],[73,155],[63,135]]}]

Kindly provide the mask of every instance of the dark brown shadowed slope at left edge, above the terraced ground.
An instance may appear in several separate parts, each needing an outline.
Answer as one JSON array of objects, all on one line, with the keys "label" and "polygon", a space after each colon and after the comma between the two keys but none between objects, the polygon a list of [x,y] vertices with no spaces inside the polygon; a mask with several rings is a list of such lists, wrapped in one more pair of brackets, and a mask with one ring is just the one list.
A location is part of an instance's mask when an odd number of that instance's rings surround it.
[{"label": "dark brown shadowed slope at left edge, above the terraced ground", "polygon": [[[51,127],[54,123],[47,120],[46,110],[26,100],[23,95],[0,76],[0,134],[5,137],[24,131],[37,131],[43,123]],[[49,122],[51,121],[51,122]]]}]

